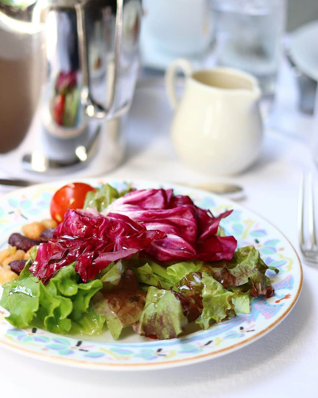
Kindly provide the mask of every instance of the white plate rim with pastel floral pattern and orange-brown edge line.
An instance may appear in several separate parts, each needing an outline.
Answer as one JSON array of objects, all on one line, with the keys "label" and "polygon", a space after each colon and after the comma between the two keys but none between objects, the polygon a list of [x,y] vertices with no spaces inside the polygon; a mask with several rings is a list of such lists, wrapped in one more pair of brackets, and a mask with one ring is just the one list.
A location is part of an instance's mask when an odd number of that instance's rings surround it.
[{"label": "white plate rim with pastel floral pattern and orange-brown edge line", "polygon": [[[52,195],[67,182],[33,185],[0,197],[0,250],[6,246],[10,234],[19,231],[23,224],[48,217]],[[123,181],[106,178],[83,179],[83,182],[93,186],[109,182],[117,188],[124,184]],[[273,297],[254,299],[250,314],[238,315],[207,330],[163,341],[129,333],[115,341],[107,331],[102,336],[88,338],[60,336],[37,328],[20,330],[6,321],[6,311],[0,307],[0,345],[29,357],[63,365],[136,371],[212,359],[252,343],[277,326],[295,305],[302,287],[301,262],[289,240],[260,216],[218,195],[169,183],[133,183],[138,189],[167,189],[172,185],[176,193],[189,195],[197,205],[210,209],[212,213],[234,209],[221,225],[227,234],[237,238],[238,246],[254,244],[265,262],[279,269],[278,275],[268,271],[275,289]]]}]

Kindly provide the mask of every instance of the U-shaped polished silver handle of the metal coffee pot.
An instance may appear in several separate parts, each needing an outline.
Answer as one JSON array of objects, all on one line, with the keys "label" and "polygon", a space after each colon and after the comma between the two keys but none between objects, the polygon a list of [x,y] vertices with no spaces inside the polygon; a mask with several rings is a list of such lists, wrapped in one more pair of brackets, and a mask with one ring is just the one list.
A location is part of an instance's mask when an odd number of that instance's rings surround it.
[{"label": "U-shaped polished silver handle of the metal coffee pot", "polygon": [[114,62],[112,68],[111,81],[106,82],[108,103],[103,107],[95,102],[89,90],[89,67],[87,64],[87,39],[85,32],[85,13],[81,3],[76,4],[76,18],[78,30],[78,43],[80,52],[80,62],[82,70],[83,89],[81,92],[82,103],[85,106],[85,113],[89,117],[97,119],[110,119],[115,113],[116,86],[119,74],[120,47],[122,41],[122,19],[123,19],[123,0],[117,0],[116,27],[114,43]]}]

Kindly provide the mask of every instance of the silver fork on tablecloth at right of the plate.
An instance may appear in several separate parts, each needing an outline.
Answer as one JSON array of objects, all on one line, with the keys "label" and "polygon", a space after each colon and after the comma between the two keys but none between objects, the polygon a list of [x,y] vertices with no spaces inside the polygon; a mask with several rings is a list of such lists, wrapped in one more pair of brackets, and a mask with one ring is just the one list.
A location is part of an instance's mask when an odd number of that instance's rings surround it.
[{"label": "silver fork on tablecloth at right of the plate", "polygon": [[314,213],[314,181],[312,174],[308,174],[308,226],[309,236],[306,238],[304,232],[304,193],[305,193],[305,179],[304,174],[301,174],[301,181],[299,184],[299,197],[298,197],[298,235],[299,246],[304,260],[311,264],[318,265],[318,246],[317,235],[315,226],[315,213]]}]

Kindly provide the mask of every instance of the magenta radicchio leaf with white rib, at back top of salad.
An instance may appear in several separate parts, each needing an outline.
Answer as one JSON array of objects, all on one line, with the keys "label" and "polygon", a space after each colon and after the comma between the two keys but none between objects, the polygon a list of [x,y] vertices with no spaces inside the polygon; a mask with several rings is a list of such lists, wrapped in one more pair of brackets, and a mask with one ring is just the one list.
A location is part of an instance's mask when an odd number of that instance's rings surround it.
[{"label": "magenta radicchio leaf with white rib, at back top of salad", "polygon": [[147,253],[157,261],[231,260],[237,247],[233,236],[217,236],[219,222],[231,214],[218,217],[195,206],[188,196],[172,195],[172,190],[148,189],[128,193],[114,201],[105,214],[114,211],[157,229],[167,237],[156,240]]}]

